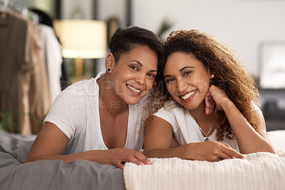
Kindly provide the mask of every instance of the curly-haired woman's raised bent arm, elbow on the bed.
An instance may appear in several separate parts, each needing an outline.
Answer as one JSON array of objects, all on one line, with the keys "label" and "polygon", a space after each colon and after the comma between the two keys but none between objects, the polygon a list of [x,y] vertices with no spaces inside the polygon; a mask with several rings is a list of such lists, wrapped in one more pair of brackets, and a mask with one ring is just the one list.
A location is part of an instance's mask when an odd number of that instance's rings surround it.
[{"label": "curly-haired woman's raised bent arm, elbow on the bed", "polygon": [[217,86],[210,86],[209,91],[216,102],[217,110],[224,110],[242,154],[257,151],[274,153],[274,148],[266,134],[264,116],[261,111],[254,111],[258,119],[257,131],[255,131],[224,91]]}]

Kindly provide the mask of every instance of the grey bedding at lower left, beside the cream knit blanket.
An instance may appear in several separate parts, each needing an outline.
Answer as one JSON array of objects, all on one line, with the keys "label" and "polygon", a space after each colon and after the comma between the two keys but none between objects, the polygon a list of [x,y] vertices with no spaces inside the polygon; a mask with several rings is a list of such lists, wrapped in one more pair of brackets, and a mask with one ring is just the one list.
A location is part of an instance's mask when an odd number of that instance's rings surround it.
[{"label": "grey bedding at lower left, beside the cream knit blanket", "polygon": [[123,171],[94,161],[24,163],[35,136],[0,131],[0,189],[125,189]]}]

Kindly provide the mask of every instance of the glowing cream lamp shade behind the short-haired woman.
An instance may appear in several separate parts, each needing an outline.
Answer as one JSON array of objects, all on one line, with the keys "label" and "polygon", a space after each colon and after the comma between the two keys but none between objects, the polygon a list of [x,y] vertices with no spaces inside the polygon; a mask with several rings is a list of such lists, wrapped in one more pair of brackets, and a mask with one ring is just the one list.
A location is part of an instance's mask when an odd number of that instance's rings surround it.
[{"label": "glowing cream lamp shade behind the short-haired woman", "polygon": [[107,26],[103,21],[67,19],[54,21],[65,58],[103,58],[107,52]]}]

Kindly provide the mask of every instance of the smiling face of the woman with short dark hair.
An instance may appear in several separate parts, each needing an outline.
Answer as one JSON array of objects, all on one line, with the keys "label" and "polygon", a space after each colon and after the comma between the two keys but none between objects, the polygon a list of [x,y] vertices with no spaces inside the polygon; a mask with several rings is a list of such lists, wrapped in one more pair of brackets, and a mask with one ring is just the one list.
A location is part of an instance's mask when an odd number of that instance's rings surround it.
[{"label": "smiling face of the woman with short dark hair", "polygon": [[[110,54],[109,54],[110,55]],[[110,57],[107,59],[111,59]],[[110,82],[115,96],[126,104],[136,104],[152,89],[157,75],[157,54],[148,46],[135,46],[110,66]]]}]

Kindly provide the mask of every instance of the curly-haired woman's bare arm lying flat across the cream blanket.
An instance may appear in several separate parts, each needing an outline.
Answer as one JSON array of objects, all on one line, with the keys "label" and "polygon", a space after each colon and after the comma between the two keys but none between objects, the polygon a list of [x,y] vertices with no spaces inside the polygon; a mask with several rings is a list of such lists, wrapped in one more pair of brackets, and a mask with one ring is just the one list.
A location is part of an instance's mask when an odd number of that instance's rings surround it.
[{"label": "curly-haired woman's bare arm lying flat across the cream blanket", "polygon": [[147,157],[195,159],[219,161],[221,159],[244,158],[229,145],[218,141],[184,144],[172,146],[172,126],[157,116],[153,116],[147,126],[144,143],[144,154]]}]

